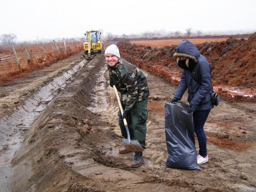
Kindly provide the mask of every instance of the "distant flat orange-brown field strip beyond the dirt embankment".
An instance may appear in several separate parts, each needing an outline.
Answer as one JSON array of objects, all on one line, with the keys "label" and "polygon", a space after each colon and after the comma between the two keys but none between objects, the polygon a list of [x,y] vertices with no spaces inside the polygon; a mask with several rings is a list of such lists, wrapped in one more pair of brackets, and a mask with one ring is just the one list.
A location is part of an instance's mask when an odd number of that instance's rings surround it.
[{"label": "distant flat orange-brown field strip beyond the dirt embankment", "polygon": [[[237,38],[240,39],[240,38]],[[244,38],[248,40],[248,38]],[[188,39],[190,42],[194,44],[202,44],[204,42],[221,42],[226,41],[227,38],[214,38],[214,39]],[[150,46],[154,47],[164,47],[164,46],[172,46],[178,45],[182,39],[168,39],[168,40],[150,40],[150,41],[131,41],[131,43],[135,43],[138,45]]]}]

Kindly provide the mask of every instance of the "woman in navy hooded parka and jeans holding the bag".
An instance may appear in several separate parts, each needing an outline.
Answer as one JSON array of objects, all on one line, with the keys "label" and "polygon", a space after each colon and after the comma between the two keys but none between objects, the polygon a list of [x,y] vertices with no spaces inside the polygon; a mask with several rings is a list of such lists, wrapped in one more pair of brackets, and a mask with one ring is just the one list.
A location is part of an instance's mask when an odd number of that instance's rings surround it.
[{"label": "woman in navy hooded parka and jeans holding the bag", "polygon": [[194,131],[199,143],[197,163],[206,163],[208,162],[208,155],[204,123],[210,110],[214,107],[211,100],[213,90],[210,64],[199,53],[196,46],[188,40],[180,42],[174,57],[177,57],[178,66],[183,68],[183,72],[180,84],[170,102],[181,100],[188,88],[188,102],[190,103],[189,107],[193,111]]}]

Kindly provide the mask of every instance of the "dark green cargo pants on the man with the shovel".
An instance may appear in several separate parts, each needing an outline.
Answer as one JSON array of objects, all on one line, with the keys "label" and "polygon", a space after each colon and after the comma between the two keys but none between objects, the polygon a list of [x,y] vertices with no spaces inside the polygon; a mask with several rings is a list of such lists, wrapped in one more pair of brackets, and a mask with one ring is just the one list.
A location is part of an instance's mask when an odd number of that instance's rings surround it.
[{"label": "dark green cargo pants on the man with the shovel", "polygon": [[[135,102],[126,119],[131,140],[138,140],[140,145],[145,149],[146,146],[146,121],[148,119],[148,99]],[[124,107],[124,106],[123,106]],[[127,139],[124,122],[121,120],[121,111],[118,111],[118,121],[122,136]]]}]

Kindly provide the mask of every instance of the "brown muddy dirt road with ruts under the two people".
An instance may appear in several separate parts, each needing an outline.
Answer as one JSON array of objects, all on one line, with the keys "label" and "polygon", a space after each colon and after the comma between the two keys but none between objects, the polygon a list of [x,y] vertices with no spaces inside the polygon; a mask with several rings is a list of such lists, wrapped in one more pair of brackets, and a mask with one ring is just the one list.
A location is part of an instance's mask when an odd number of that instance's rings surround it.
[{"label": "brown muddy dirt road with ruts under the two people", "polygon": [[130,168],[134,154],[118,153],[118,103],[104,56],[81,56],[1,87],[1,192],[256,191],[255,103],[222,101],[210,112],[201,171],[165,168],[164,104],[176,87],[144,72],[147,149],[144,165]]}]

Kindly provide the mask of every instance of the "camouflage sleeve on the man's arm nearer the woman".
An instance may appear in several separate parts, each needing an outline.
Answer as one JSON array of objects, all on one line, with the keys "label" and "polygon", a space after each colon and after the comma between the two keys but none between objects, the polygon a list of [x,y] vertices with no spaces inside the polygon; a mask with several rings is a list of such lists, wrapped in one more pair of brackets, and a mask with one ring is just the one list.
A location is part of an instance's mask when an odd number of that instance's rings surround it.
[{"label": "camouflage sleeve on the man's arm nearer the woman", "polygon": [[136,72],[125,74],[123,81],[128,94],[125,110],[130,110],[138,98],[138,82]]}]

